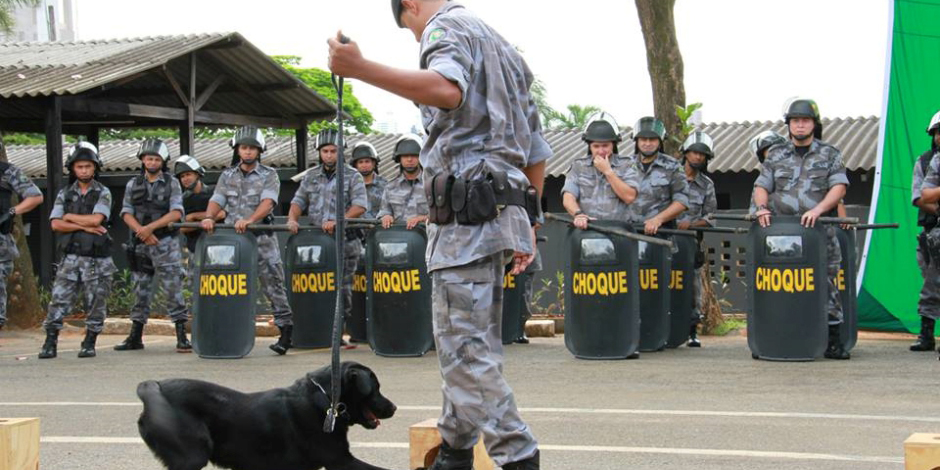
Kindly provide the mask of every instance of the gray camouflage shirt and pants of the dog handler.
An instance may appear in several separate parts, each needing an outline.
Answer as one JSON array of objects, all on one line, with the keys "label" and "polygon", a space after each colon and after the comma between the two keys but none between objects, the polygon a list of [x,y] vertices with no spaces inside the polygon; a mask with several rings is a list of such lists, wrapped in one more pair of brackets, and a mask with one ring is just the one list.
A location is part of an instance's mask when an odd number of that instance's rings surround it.
[{"label": "gray camouflage shirt and pants of the dog handler", "polygon": [[[528,93],[532,73],[516,49],[462,5],[447,2],[427,23],[420,64],[461,91],[454,110],[420,106],[428,134],[420,156],[425,181],[441,173],[478,179],[504,171],[515,188],[528,186],[520,169],[546,160],[551,148]],[[505,255],[532,253],[532,241],[519,206],[480,225],[428,227],[434,339],[444,380],[437,427],[454,449],[469,449],[482,432],[497,466],[538,450],[502,375],[500,340]]]}]

